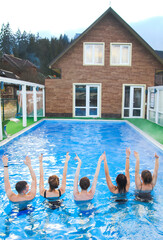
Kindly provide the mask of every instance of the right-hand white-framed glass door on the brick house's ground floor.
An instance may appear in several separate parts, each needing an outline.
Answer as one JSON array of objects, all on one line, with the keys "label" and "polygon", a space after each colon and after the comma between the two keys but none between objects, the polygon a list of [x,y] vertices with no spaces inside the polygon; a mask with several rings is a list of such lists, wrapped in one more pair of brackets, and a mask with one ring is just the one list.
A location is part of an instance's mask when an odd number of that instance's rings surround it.
[{"label": "right-hand white-framed glass door on the brick house's ground floor", "polygon": [[142,118],[143,117],[144,87],[125,86],[123,117]]}]

